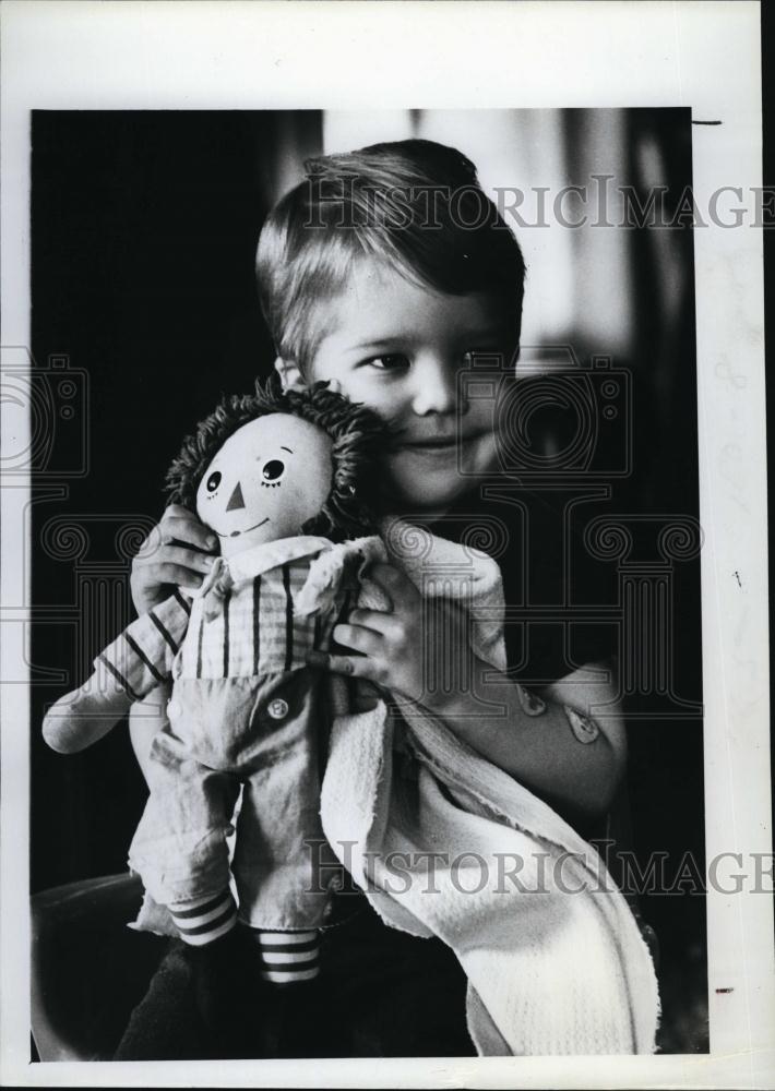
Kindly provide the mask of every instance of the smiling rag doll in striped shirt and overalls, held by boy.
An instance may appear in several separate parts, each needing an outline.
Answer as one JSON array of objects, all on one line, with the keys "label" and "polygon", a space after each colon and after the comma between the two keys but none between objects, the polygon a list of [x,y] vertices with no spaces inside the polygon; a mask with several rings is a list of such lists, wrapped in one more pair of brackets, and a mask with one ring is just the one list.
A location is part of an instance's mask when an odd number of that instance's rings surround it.
[{"label": "smiling rag doll in striped shirt and overalls, held by boy", "polygon": [[263,978],[281,984],[317,975],[327,900],[311,848],[324,840],[326,687],[306,657],[326,650],[349,589],[384,555],[363,500],[382,435],[325,383],[225,398],[167,477],[220,555],[198,592],[176,589],[132,622],[44,723],[53,750],[83,750],[172,680],[130,866],[187,949],[239,918]]}]

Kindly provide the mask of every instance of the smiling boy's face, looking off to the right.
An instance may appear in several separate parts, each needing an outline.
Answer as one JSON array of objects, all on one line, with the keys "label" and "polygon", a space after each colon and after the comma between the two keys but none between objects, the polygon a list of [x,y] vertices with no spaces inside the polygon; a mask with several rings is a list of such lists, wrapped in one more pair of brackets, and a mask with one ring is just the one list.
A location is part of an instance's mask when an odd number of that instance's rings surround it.
[{"label": "smiling boy's face, looking off to the right", "polygon": [[461,373],[472,369],[468,353],[501,352],[508,361],[516,347],[489,297],[445,296],[362,259],[323,325],[307,380],[330,380],[390,422],[384,492],[396,511],[442,514],[473,476],[496,468],[496,399],[462,403],[458,394]]}]

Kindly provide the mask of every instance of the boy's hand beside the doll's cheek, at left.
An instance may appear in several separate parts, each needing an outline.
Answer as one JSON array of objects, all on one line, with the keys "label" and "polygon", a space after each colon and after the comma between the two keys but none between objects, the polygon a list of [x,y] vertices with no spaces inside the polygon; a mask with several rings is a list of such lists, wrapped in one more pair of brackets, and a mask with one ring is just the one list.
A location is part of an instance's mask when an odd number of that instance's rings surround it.
[{"label": "boy's hand beside the doll's cheek, at left", "polygon": [[164,601],[171,586],[200,587],[217,549],[218,539],[208,527],[188,508],[170,504],[132,562],[132,601],[138,613]]}]

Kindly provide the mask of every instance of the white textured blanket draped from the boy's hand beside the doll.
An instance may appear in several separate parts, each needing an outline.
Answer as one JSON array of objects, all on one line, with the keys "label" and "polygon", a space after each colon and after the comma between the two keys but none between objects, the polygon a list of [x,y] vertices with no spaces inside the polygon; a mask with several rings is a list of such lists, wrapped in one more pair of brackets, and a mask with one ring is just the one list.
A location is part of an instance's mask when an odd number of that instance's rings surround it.
[{"label": "white textured blanket draped from the boy's hand beside the doll", "polygon": [[[424,595],[472,609],[475,651],[503,669],[496,562],[406,524],[385,541]],[[360,604],[386,606],[369,583]],[[652,1053],[652,958],[595,849],[434,717],[402,709],[407,762],[384,702],[353,711],[334,688],[323,829],[388,924],[454,950],[479,1054]]]}]

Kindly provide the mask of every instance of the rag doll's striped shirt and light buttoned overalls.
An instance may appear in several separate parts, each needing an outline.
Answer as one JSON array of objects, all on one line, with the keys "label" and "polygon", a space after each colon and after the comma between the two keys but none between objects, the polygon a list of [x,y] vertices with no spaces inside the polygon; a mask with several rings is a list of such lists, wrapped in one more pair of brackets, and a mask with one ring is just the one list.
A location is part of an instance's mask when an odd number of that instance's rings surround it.
[{"label": "rag doll's striped shirt and light buttoned overalls", "polygon": [[344,580],[327,588],[319,612],[295,610],[322,548],[331,543],[290,538],[240,554],[212,620],[206,600],[178,594],[102,654],[138,697],[171,667],[169,723],[152,743],[151,796],[129,854],[159,904],[217,894],[231,873],[245,923],[289,931],[323,922],[319,808],[330,716],[324,675],[306,656],[327,648]]}]

